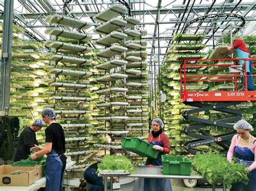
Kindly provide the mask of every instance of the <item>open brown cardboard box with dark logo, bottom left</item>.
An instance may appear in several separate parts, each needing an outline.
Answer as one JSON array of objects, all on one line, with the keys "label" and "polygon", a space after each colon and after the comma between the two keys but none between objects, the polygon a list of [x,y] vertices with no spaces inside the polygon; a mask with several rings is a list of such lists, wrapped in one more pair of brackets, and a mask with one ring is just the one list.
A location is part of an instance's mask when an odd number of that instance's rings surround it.
[{"label": "open brown cardboard box with dark logo, bottom left", "polygon": [[[15,171],[25,171],[21,174],[9,174]],[[0,166],[0,186],[29,186],[42,178],[42,166]]]}]

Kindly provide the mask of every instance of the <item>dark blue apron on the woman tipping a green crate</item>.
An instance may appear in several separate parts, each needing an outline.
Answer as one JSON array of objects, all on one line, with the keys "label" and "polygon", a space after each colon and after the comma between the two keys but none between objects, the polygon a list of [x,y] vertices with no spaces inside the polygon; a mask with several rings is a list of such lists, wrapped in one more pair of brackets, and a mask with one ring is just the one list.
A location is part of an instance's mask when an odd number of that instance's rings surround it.
[{"label": "dark blue apron on the woman tipping a green crate", "polygon": [[[152,140],[152,137],[151,137]],[[150,142],[151,145],[159,145],[163,147],[164,145],[160,142],[160,135],[158,142]],[[147,158],[145,165],[161,166],[162,159],[161,155],[165,153],[159,152],[157,159]],[[172,185],[170,179],[150,179],[150,178],[139,178],[136,180],[135,185],[132,189],[133,191],[143,190],[143,191],[172,191]]]}]

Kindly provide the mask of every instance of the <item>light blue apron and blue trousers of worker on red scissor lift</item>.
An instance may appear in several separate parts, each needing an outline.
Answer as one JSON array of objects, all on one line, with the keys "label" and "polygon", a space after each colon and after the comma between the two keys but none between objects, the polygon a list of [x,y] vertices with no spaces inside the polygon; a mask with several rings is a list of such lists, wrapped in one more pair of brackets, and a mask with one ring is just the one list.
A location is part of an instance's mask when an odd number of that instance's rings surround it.
[{"label": "light blue apron and blue trousers of worker on red scissor lift", "polygon": [[[238,58],[250,58],[250,54],[248,52],[242,51],[239,48],[234,48],[234,51],[237,52]],[[240,65],[244,66],[244,63],[245,63],[244,60],[239,60],[239,62],[240,62]],[[253,81],[253,76],[251,76],[251,75],[253,75],[252,63],[253,63],[252,61],[246,60],[246,74],[249,75],[249,76],[247,76],[248,91],[254,91],[254,81]]]}]

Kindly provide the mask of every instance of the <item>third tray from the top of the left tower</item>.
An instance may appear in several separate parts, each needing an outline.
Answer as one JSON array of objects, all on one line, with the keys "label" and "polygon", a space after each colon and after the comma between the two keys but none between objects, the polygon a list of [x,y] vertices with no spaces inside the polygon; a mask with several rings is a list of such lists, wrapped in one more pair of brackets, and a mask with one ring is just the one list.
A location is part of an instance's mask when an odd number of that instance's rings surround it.
[{"label": "third tray from the top of the left tower", "polygon": [[[80,53],[88,53],[92,51],[91,47],[81,46],[81,45],[73,45],[71,43],[62,43],[59,41],[51,41],[51,43],[46,43],[49,47],[64,49],[69,52],[80,52]],[[46,46],[46,45],[45,45]]]}]

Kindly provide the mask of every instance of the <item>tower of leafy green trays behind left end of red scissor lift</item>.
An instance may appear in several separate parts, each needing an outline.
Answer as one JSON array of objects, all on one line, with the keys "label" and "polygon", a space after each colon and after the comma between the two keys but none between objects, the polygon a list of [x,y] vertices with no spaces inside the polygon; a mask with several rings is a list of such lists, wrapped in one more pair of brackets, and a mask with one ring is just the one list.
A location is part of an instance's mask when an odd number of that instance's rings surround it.
[{"label": "tower of leafy green trays behind left end of red scissor lift", "polygon": [[[163,111],[162,118],[165,123],[165,132],[170,137],[171,154],[182,154],[185,148],[182,146],[186,140],[190,140],[183,132],[188,122],[184,120],[182,114],[187,109],[191,109],[183,103],[179,103],[180,90],[180,63],[185,59],[202,59],[205,54],[200,53],[205,45],[201,40],[205,38],[204,34],[176,34],[173,37],[174,43],[170,46],[165,59],[165,65],[161,67],[161,90],[166,94],[166,101],[161,103]],[[189,63],[187,63],[189,64]],[[203,68],[187,68],[187,75],[203,74]],[[194,91],[206,89],[207,83],[192,82],[187,83],[187,88]],[[202,118],[207,118],[204,113],[199,114]]]}]

